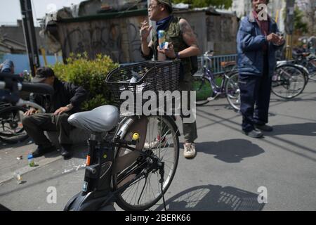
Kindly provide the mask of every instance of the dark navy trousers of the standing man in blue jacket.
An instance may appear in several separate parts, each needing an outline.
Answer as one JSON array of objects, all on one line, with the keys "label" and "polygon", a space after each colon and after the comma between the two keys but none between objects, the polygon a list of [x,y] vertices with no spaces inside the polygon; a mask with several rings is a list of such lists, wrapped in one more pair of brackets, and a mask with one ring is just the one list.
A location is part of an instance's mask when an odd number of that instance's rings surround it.
[{"label": "dark navy trousers of the standing man in blue jacket", "polygon": [[242,130],[249,132],[254,124],[268,123],[272,79],[268,74],[268,58],[263,62],[263,74],[239,75]]}]

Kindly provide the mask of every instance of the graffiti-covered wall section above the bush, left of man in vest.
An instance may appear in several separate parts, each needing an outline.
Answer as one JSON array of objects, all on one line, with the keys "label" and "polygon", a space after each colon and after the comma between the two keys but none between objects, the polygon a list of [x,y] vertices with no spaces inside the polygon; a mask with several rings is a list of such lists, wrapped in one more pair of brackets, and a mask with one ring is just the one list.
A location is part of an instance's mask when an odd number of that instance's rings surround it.
[{"label": "graffiti-covered wall section above the bush, left of man in vest", "polygon": [[62,54],[67,58],[72,52],[83,53],[86,51],[91,58],[98,53],[103,53],[119,63],[143,60],[140,56],[139,25],[146,18],[146,16],[135,16],[60,23],[58,24],[58,34]]}]

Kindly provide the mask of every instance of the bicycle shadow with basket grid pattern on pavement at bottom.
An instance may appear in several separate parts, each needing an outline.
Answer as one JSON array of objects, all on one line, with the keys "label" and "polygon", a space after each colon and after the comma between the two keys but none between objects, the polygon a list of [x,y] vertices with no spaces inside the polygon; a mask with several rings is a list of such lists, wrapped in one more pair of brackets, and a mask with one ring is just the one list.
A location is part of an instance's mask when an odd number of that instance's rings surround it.
[{"label": "bicycle shadow with basket grid pattern on pavement at bottom", "polygon": [[[166,200],[167,210],[173,211],[261,211],[258,194],[234,187],[197,186]],[[156,210],[163,210],[159,205]]]}]

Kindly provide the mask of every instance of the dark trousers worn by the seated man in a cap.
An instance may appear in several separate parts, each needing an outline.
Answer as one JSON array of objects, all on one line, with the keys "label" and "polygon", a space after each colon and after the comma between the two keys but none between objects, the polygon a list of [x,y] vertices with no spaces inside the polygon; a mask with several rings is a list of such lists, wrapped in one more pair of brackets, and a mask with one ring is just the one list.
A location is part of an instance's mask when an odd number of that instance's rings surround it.
[{"label": "dark trousers worn by the seated man in a cap", "polygon": [[22,120],[23,127],[27,134],[34,140],[37,145],[47,146],[51,141],[47,139],[44,131],[57,131],[58,141],[62,144],[72,144],[70,140],[70,131],[72,126],[68,123],[67,113],[62,115],[53,115],[53,113],[38,113]]}]

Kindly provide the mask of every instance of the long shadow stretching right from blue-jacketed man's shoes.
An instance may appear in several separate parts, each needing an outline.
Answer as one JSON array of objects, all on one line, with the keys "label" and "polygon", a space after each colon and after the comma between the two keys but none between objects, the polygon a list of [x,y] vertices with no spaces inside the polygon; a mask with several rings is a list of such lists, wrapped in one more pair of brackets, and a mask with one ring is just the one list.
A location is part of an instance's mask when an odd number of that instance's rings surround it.
[{"label": "long shadow stretching right from blue-jacketed man's shoes", "polygon": [[316,123],[305,122],[303,124],[284,124],[273,126],[273,131],[265,135],[293,134],[303,136],[316,136]]}]

